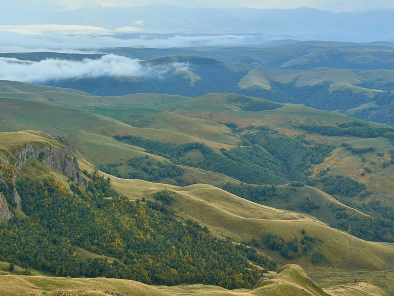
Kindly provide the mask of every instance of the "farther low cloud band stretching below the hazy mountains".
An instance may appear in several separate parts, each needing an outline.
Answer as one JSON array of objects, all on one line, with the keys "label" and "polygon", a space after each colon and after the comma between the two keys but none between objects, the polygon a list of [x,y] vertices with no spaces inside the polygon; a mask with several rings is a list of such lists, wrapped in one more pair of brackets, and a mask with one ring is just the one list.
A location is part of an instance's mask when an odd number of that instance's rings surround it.
[{"label": "farther low cloud band stretching below the hazy mountains", "polygon": [[[73,31],[76,29],[76,31]],[[245,46],[264,41],[238,35],[136,34],[134,27],[107,30],[89,26],[0,26],[0,52],[99,50],[107,47],[186,48],[192,46]],[[74,32],[74,34],[70,34]],[[96,33],[95,33],[96,32]],[[79,34],[75,34],[79,33]],[[37,46],[39,44],[39,46]]]}]

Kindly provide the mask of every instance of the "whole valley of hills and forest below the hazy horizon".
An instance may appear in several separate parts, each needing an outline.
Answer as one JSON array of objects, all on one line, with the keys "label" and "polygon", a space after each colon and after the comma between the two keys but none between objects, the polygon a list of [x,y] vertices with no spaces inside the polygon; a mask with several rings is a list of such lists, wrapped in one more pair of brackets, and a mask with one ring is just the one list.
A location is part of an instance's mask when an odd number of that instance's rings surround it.
[{"label": "whole valley of hills and forest below the hazy horizon", "polygon": [[392,51],[1,53],[0,294],[392,295]]}]

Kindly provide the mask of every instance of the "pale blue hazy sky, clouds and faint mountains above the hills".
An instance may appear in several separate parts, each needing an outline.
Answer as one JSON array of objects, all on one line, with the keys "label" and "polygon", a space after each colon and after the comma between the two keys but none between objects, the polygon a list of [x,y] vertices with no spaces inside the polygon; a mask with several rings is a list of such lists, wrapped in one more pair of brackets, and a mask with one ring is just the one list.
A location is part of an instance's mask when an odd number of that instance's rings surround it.
[{"label": "pale blue hazy sky, clouds and faint mountains above the hills", "polygon": [[0,52],[394,40],[392,0],[19,0],[1,11]]}]

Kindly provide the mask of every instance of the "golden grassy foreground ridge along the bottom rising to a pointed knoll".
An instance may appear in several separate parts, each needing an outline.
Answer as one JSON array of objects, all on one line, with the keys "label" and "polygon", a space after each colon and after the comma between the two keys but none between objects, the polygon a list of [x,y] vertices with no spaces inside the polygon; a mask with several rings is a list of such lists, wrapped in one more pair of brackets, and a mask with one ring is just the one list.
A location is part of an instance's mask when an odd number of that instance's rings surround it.
[{"label": "golden grassy foreground ridge along the bottom rising to a pointed knoll", "polygon": [[[281,296],[287,293],[291,295],[308,295],[327,296],[317,284],[308,278],[306,273],[296,265],[285,266],[277,275],[269,275],[254,290],[238,289],[226,290],[220,287],[188,285],[188,286],[148,286],[135,281],[119,279],[66,279],[40,276],[2,276],[0,277],[1,295],[22,295],[22,294],[40,294],[47,292],[47,295],[58,295],[65,292],[66,295],[71,293],[86,295],[108,295],[108,293],[117,293],[116,295],[158,295],[158,296],[192,296],[192,295],[215,295],[215,296]],[[19,283],[15,285],[14,283]],[[21,283],[23,283],[21,285]],[[12,290],[7,290],[14,287]],[[6,288],[6,289],[4,289]],[[114,295],[114,294],[112,294]]]}]

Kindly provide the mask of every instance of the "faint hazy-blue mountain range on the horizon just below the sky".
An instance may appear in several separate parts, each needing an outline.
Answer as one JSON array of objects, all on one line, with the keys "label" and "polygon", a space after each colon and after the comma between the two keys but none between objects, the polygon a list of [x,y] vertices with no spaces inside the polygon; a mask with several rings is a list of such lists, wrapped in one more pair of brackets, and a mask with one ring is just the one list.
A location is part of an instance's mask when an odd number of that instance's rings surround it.
[{"label": "faint hazy-blue mountain range on the horizon just below the sky", "polygon": [[[1,24],[84,25],[109,30],[134,27],[136,32],[141,33],[258,33],[266,34],[267,39],[354,42],[389,40],[394,37],[393,10],[333,13],[305,7],[182,8],[157,4],[53,11],[54,7],[38,5],[33,12],[31,9],[27,11],[27,8],[21,8],[20,15],[27,16],[25,21],[21,17],[4,15]],[[119,33],[122,33],[122,30]]]}]

